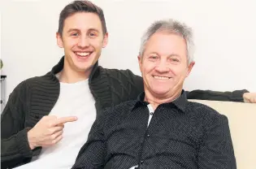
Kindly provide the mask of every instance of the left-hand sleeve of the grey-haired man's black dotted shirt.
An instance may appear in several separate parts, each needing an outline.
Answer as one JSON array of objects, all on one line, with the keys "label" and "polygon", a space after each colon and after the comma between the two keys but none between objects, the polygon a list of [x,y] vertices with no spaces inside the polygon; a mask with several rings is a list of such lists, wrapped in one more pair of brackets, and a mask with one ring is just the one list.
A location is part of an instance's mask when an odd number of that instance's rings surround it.
[{"label": "left-hand sleeve of the grey-haired man's black dotted shirt", "polygon": [[89,132],[88,141],[80,149],[76,163],[72,169],[103,169],[106,158],[106,140],[104,138],[104,112],[93,123]]}]

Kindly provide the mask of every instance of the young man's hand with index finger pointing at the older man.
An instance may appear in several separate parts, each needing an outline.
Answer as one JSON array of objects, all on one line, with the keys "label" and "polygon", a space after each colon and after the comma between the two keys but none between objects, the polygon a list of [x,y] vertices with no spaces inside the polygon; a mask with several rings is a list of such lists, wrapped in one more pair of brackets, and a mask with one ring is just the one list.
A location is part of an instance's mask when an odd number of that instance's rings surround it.
[{"label": "young man's hand with index finger pointing at the older man", "polygon": [[28,131],[28,143],[30,149],[55,145],[63,138],[64,124],[76,121],[76,117],[57,118],[54,115],[46,115]]}]

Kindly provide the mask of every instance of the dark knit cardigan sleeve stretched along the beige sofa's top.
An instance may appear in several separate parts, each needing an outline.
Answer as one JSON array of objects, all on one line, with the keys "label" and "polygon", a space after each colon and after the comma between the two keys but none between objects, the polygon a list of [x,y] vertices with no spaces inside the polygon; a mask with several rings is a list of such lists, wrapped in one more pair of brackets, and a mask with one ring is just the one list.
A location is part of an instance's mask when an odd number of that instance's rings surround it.
[{"label": "dark knit cardigan sleeve stretched along the beige sofa's top", "polygon": [[243,94],[248,92],[249,91],[246,89],[235,90],[233,92],[217,92],[197,89],[191,92],[187,91],[186,94],[188,99],[244,102]]}]

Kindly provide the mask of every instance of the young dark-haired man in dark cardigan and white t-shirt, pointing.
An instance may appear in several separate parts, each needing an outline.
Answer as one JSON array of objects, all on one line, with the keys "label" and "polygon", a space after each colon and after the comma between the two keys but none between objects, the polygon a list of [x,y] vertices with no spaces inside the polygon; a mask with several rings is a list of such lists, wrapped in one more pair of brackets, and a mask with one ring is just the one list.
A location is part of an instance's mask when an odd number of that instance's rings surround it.
[{"label": "young dark-haired man in dark cardigan and white t-shirt, pointing", "polygon": [[[21,82],[2,112],[2,168],[72,167],[96,115],[143,91],[141,76],[98,66],[108,34],[103,11],[92,2],[65,6],[56,37],[65,56],[46,75]],[[246,92],[196,90],[188,98],[243,102]]]}]

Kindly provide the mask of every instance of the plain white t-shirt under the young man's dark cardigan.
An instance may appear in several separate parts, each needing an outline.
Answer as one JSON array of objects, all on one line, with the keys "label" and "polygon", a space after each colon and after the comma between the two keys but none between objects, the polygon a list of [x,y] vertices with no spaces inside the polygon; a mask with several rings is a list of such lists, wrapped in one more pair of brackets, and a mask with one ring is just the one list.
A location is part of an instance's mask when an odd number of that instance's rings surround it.
[{"label": "plain white t-shirt under the young man's dark cardigan", "polygon": [[75,122],[64,124],[63,139],[58,144],[41,150],[33,162],[19,169],[67,169],[76,161],[80,148],[87,141],[89,130],[96,119],[95,101],[89,90],[89,80],[74,84],[60,83],[59,99],[50,115],[76,116]]}]

